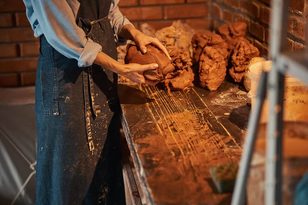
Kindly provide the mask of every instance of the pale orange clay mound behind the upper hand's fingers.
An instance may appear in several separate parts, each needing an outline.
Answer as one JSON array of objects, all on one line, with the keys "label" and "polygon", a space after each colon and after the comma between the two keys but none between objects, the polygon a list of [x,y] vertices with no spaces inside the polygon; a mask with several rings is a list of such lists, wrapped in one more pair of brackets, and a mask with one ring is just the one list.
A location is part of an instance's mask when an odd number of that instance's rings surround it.
[{"label": "pale orange clay mound behind the upper hand's fingers", "polygon": [[192,53],[191,42],[182,23],[174,22],[172,26],[156,31],[155,37],[166,47],[168,52],[179,48],[190,57],[190,53]]}]

